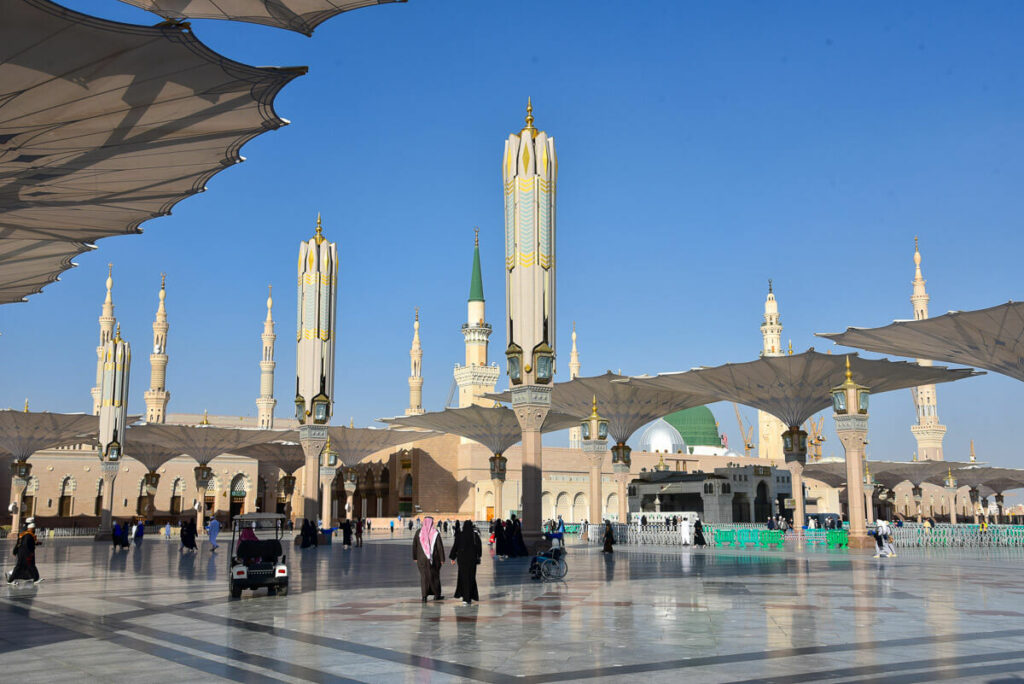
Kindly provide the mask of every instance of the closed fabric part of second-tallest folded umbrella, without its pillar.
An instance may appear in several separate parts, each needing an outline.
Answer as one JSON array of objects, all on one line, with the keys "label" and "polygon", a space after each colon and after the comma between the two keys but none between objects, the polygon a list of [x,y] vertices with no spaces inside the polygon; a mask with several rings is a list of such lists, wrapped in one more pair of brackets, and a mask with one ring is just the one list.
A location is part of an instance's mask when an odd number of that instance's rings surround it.
[{"label": "closed fabric part of second-tallest folded umbrella, without its pillar", "polygon": [[[324,237],[319,214],[316,234],[299,247],[299,311],[296,330],[296,410],[300,403],[312,423],[314,397],[326,396],[330,420],[334,413],[335,315],[338,307],[338,247]],[[298,418],[298,416],[296,416]],[[306,420],[311,418],[312,420]]]}]

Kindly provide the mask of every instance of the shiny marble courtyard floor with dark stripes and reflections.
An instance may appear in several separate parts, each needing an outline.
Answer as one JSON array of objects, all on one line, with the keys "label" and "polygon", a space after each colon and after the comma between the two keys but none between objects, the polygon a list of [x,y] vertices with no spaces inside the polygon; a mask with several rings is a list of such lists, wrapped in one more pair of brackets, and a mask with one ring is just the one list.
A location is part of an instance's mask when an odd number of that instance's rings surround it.
[{"label": "shiny marble courtyard floor with dark stripes and reflections", "polygon": [[[229,540],[229,538],[228,538]],[[451,537],[445,538],[445,546]],[[228,597],[222,548],[47,540],[0,589],[4,682],[1006,682],[1024,676],[1024,553],[570,547],[566,582],[480,565],[422,604],[411,540],[289,554],[291,593]],[[791,543],[791,546],[792,543]],[[9,568],[10,543],[0,544]],[[442,570],[451,593],[456,571]]]}]

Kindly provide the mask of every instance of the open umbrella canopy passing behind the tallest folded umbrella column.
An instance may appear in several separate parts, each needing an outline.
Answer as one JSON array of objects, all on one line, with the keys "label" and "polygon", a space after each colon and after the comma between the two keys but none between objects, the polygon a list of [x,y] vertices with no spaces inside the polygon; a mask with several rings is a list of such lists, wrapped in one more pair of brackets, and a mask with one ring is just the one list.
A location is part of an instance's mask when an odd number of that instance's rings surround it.
[{"label": "open umbrella canopy passing behind the tallest folded umbrella column", "polygon": [[[464,407],[445,409],[419,416],[382,418],[385,423],[404,427],[420,427],[457,434],[486,446],[492,454],[504,454],[509,446],[522,439],[522,428],[515,412],[505,407]],[[557,412],[549,412],[541,432],[555,432],[580,425],[580,419]]]}]

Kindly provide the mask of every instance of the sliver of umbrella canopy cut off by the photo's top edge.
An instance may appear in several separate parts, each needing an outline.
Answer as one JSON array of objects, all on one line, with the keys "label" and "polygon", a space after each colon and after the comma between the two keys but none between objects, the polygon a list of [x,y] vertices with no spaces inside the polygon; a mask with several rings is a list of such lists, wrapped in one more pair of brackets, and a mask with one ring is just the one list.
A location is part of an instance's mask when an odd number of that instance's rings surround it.
[{"label": "sliver of umbrella canopy cut off by the photo's top edge", "polygon": [[298,31],[351,9],[406,0],[121,0],[169,19],[232,19]]}]

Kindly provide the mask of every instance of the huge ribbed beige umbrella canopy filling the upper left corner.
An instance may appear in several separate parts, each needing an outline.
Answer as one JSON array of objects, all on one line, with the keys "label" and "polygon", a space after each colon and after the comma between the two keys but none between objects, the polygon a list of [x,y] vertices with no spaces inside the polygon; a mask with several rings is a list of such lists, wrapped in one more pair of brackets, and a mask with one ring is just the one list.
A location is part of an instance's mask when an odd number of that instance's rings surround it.
[{"label": "huge ribbed beige umbrella canopy filling the upper left corner", "polygon": [[232,61],[183,27],[49,0],[7,0],[2,12],[0,303],[203,191],[248,140],[288,123],[274,97],[305,73]]}]

